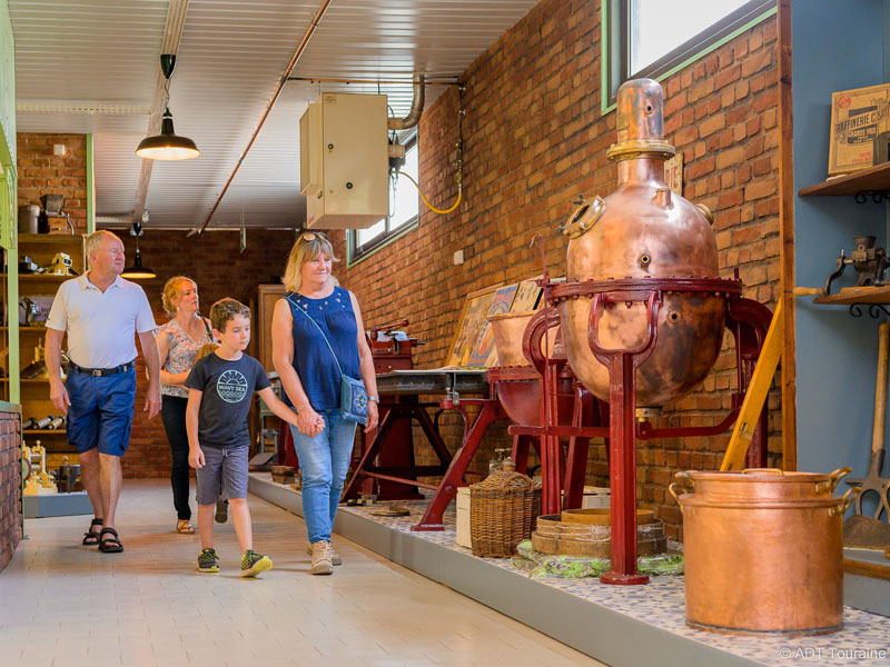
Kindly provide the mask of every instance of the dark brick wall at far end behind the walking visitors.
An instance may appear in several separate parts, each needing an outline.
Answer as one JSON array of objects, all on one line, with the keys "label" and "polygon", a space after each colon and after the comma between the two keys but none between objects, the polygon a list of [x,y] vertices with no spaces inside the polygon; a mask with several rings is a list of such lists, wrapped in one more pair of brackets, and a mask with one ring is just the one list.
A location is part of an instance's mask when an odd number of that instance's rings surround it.
[{"label": "dark brick wall at far end behind the walking visitors", "polygon": [[[127,263],[132,262],[136,238],[117,231],[123,240]],[[234,297],[247,303],[250,290],[259,283],[273,282],[284,271],[287,253],[294,240],[290,230],[247,231],[247,249],[239,252],[238,230],[208,231],[201,237],[186,237],[185,231],[146,230],[139,239],[142,265],[150,267],[158,278],[140,280],[146,290],[155,321],[161,325],[167,315],[161,306],[164,283],[172,276],[189,276],[198,282],[201,311],[207,315],[214,301]],[[137,346],[138,347],[138,346]],[[160,416],[145,418],[142,406],[148,381],[141,354],[137,368],[136,416],[130,436],[130,448],[123,457],[126,477],[167,477],[170,474],[170,449]]]}]

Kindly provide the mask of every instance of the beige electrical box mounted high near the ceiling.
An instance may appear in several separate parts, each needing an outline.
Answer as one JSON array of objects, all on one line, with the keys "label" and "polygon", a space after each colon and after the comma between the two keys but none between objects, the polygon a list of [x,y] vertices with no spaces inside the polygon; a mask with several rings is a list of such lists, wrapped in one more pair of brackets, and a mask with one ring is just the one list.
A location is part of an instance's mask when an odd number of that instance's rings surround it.
[{"label": "beige electrical box mounted high near the ceiling", "polygon": [[308,229],[364,229],[389,213],[385,94],[326,92],[299,120]]}]

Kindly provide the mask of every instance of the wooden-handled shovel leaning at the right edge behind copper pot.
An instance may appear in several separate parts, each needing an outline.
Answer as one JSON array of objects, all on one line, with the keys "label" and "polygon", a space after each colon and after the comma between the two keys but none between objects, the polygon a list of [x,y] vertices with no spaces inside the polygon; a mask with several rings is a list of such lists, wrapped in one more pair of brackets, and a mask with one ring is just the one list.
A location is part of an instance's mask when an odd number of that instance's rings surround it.
[{"label": "wooden-handled shovel leaning at the right edge behind copper pot", "polygon": [[[878,381],[874,388],[874,427],[871,432],[871,464],[864,479],[848,479],[847,484],[861,486],[856,499],[856,514],[843,524],[843,544],[858,549],[882,549],[890,535],[890,479],[882,478],[884,424],[887,417],[887,378],[890,362],[890,322],[878,328]],[[878,494],[878,506],[871,517],[862,515],[862,496]],[[881,521],[881,515],[886,520]]]}]

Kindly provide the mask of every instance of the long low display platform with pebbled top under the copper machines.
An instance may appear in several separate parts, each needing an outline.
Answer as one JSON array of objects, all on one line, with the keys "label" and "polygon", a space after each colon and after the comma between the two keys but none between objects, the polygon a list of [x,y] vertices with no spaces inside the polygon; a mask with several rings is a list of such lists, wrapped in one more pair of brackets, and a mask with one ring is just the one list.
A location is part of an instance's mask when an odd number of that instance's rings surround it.
[{"label": "long low display platform with pebbled top under the copper machines", "polygon": [[[251,472],[251,494],[303,516],[298,491]],[[682,577],[645,586],[597,579],[532,579],[508,559],[478,558],[455,542],[454,504],[445,530],[415,532],[426,501],[393,501],[411,516],[380,518],[346,507],[334,530],[346,539],[524,623],[614,667],[690,665],[844,665],[890,667],[890,618],[844,608],[844,629],[819,637],[738,637],[688,628]],[[790,601],[793,604],[793,600]]]}]

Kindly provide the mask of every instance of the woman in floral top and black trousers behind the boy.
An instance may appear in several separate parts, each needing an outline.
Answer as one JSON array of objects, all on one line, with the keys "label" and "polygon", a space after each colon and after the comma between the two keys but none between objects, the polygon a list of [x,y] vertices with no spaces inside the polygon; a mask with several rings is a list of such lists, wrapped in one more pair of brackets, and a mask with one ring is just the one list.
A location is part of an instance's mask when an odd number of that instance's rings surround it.
[{"label": "woman in floral top and black trousers behind the boy", "polygon": [[189,465],[186,435],[188,389],[184,384],[201,346],[212,342],[210,322],[198,312],[198,286],[190,278],[176,276],[164,286],[164,309],[169,322],[158,329],[160,352],[161,421],[170,442],[174,467],[170,484],[174,489],[176,530],[191,535],[191,508],[188,504]]}]

